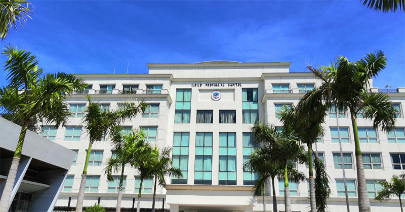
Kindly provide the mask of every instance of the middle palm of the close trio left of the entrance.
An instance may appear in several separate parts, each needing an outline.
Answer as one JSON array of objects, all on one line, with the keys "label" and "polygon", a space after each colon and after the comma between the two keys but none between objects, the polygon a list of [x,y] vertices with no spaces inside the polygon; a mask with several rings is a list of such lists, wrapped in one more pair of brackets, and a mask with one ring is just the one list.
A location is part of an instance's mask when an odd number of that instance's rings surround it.
[{"label": "middle palm of the close trio left of the entrance", "polygon": [[156,154],[154,149],[146,140],[139,140],[134,149],[142,149],[142,154],[134,154],[131,161],[131,165],[138,170],[139,177],[141,178],[136,206],[136,211],[140,212],[142,184],[146,178],[153,177],[153,166],[156,162],[156,157],[158,157],[158,154]]}]

